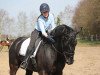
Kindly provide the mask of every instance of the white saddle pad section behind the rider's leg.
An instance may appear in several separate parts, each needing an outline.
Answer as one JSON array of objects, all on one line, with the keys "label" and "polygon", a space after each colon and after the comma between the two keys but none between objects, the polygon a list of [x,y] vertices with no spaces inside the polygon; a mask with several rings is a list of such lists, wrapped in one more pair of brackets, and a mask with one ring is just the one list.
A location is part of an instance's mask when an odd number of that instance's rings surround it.
[{"label": "white saddle pad section behind the rider's leg", "polygon": [[22,45],[21,45],[21,48],[20,48],[20,51],[19,51],[19,54],[22,55],[22,56],[25,56],[26,55],[26,51],[27,51],[27,48],[29,46],[29,43],[30,43],[30,38],[26,39]]}]

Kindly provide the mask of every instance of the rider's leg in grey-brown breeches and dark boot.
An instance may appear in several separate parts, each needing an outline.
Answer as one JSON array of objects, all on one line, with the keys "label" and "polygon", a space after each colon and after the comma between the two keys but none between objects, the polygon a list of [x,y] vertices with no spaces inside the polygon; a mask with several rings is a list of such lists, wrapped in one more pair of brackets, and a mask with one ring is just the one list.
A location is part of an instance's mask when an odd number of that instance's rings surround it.
[{"label": "rider's leg in grey-brown breeches and dark boot", "polygon": [[[36,39],[38,38],[38,36],[39,36],[39,32],[38,32],[37,30],[34,30],[34,31],[31,33],[30,44],[29,44],[29,46],[28,46],[28,49],[27,49],[27,52],[26,52],[24,61],[23,61],[22,64],[21,64],[21,68],[24,68],[24,69],[27,68],[30,55],[32,55],[32,53],[34,53],[34,51],[35,51],[34,46],[35,46],[35,41],[36,41]],[[32,59],[33,59],[33,61],[34,61],[34,63],[35,63],[35,58],[32,58]]]}]

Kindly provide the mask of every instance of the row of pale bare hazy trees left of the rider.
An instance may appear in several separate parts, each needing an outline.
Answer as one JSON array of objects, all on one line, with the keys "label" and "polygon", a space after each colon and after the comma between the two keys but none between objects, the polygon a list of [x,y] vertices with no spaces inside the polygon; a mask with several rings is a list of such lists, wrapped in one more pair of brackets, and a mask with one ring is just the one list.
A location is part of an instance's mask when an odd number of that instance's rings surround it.
[{"label": "row of pale bare hazy trees left of the rider", "polygon": [[9,16],[8,12],[0,9],[0,34],[8,35],[8,37],[30,36],[34,30],[36,23],[36,14],[30,17],[24,12],[18,14],[17,19]]}]

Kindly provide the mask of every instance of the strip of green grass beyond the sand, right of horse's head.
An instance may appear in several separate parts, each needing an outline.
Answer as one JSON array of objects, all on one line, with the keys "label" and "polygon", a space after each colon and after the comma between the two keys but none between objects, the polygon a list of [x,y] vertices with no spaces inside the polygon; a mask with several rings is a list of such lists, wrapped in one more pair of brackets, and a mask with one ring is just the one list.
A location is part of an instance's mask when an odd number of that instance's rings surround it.
[{"label": "strip of green grass beyond the sand, right of horse's head", "polygon": [[100,41],[78,40],[79,46],[100,46]]}]

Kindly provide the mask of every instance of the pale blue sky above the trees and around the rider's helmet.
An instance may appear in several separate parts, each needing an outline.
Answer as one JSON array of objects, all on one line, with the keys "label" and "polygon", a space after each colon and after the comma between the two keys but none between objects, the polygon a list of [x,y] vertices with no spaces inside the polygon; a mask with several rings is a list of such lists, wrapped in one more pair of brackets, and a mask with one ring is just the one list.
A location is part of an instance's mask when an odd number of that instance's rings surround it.
[{"label": "pale blue sky above the trees and around the rider's helmet", "polygon": [[47,3],[54,15],[64,11],[65,7],[75,8],[80,0],[0,0],[0,9],[4,9],[11,16],[17,16],[19,12],[29,14],[40,14],[39,7],[42,3]]}]

